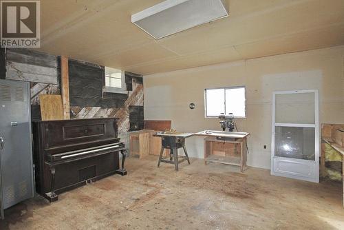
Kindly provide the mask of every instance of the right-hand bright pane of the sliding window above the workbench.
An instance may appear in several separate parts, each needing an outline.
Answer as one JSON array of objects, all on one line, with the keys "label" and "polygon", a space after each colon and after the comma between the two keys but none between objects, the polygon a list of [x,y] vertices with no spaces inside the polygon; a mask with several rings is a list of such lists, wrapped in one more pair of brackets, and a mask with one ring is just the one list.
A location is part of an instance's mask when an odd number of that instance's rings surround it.
[{"label": "right-hand bright pane of the sliding window above the workbench", "polygon": [[245,88],[226,89],[226,114],[245,117]]}]

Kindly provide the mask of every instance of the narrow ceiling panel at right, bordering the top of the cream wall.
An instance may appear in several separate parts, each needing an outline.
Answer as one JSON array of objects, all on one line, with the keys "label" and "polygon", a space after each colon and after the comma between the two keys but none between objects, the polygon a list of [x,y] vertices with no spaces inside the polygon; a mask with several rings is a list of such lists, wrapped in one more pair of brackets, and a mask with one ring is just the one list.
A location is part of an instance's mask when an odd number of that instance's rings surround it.
[{"label": "narrow ceiling panel at right, bordering the top of the cream wall", "polygon": [[313,32],[294,34],[294,36],[289,37],[237,45],[235,49],[244,59],[253,59],[261,56],[325,48],[343,43],[344,24],[325,30],[314,30]]}]

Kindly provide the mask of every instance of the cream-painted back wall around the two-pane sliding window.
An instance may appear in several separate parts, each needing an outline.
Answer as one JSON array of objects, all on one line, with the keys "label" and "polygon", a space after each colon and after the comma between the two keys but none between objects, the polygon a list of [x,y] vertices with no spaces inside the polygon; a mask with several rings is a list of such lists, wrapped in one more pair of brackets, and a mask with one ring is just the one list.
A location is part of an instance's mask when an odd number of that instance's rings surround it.
[{"label": "cream-painted back wall around the two-pane sliding window", "polygon": [[[273,91],[318,89],[320,123],[344,123],[344,46],[144,76],[144,118],[171,120],[180,132],[219,129],[217,118],[204,118],[204,89],[237,85],[246,86],[246,118],[237,125],[251,134],[248,165],[270,168]],[[202,138],[186,145],[203,158]]]}]

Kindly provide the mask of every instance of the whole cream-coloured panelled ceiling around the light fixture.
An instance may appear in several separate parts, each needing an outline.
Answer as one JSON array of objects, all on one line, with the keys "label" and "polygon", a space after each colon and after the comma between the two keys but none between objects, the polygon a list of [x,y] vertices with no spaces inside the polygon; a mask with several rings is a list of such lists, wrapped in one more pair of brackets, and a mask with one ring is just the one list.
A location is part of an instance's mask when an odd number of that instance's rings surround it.
[{"label": "whole cream-coloured panelled ceiling around the light fixture", "polygon": [[131,14],[161,0],[43,0],[41,50],[153,74],[344,44],[343,0],[227,1],[229,17],[155,40]]}]

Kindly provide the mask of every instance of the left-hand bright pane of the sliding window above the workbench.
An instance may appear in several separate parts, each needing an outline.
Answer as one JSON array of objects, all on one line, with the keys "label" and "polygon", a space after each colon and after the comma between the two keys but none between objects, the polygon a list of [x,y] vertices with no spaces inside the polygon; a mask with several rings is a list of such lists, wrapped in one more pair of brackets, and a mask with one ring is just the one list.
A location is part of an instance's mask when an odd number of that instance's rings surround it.
[{"label": "left-hand bright pane of the sliding window above the workbench", "polygon": [[224,89],[206,90],[206,116],[224,113]]}]

